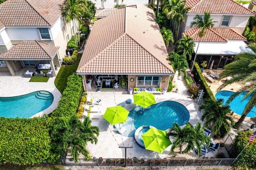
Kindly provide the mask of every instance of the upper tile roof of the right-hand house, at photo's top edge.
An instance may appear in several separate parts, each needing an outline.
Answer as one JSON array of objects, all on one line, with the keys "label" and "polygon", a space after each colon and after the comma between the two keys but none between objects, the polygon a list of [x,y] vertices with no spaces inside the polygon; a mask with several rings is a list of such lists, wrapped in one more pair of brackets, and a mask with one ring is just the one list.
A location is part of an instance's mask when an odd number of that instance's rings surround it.
[{"label": "upper tile roof of the right-hand house, at photo's top edge", "polygon": [[191,7],[188,13],[196,14],[204,13],[205,11],[211,14],[255,14],[233,0],[187,0],[186,6]]}]

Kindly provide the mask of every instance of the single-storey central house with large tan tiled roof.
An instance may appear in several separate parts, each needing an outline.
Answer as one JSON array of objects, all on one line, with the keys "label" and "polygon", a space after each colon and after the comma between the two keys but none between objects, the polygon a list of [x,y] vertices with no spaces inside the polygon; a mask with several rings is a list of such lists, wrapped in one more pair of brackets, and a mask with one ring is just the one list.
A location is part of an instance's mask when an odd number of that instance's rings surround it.
[{"label": "single-storey central house with large tan tiled roof", "polygon": [[120,87],[167,88],[173,75],[167,55],[153,10],[118,8],[94,22],[77,74],[83,76],[86,91],[99,77],[102,87],[113,88],[120,79]]}]

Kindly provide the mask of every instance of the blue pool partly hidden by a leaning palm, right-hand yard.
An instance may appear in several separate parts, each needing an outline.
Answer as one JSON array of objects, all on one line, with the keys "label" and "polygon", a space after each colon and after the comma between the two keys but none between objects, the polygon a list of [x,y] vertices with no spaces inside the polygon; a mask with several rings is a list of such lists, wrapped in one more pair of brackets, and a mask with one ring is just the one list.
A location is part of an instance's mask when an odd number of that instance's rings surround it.
[{"label": "blue pool partly hidden by a leaning palm, right-hand yard", "polygon": [[[215,98],[223,99],[223,105],[225,105],[229,97],[233,94],[234,94],[233,91],[222,90],[217,92],[217,94],[215,95]],[[246,94],[247,94],[247,91],[243,91],[229,104],[231,111],[239,115],[242,115],[246,104],[248,103],[249,99],[252,97],[252,94],[251,94],[250,96],[242,100]],[[256,106],[254,106],[251,112],[247,114],[247,117],[255,117],[255,116],[256,116]]]}]

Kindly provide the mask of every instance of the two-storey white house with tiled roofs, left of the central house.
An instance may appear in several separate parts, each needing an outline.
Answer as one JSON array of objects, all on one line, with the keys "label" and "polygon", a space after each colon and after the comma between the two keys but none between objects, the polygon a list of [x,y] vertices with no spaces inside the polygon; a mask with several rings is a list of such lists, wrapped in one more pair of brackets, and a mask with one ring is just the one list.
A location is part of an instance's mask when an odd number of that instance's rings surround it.
[{"label": "two-storey white house with tiled roofs, left of the central house", "polygon": [[51,69],[61,66],[67,42],[77,28],[61,17],[63,2],[7,0],[0,4],[0,72],[15,75],[41,62],[50,63]]}]

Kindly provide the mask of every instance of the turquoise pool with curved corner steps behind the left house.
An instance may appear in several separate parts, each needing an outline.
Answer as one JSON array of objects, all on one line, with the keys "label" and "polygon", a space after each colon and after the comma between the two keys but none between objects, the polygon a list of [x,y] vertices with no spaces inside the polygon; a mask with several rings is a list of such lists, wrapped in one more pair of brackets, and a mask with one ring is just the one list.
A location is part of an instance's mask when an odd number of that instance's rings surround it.
[{"label": "turquoise pool with curved corner steps behind the left house", "polygon": [[29,118],[48,108],[53,102],[49,91],[35,91],[27,95],[0,97],[0,116]]}]

